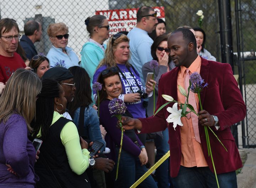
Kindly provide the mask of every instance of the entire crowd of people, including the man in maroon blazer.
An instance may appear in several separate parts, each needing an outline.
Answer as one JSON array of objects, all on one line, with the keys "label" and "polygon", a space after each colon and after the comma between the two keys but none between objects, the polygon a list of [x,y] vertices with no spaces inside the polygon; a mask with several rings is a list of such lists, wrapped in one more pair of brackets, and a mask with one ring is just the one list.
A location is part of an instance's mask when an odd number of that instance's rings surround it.
[{"label": "entire crowd of people, including the man in maroon blazer", "polygon": [[[34,46],[42,36],[41,23],[28,21],[20,38],[15,20],[0,20],[0,187],[129,188],[169,150],[170,161],[138,187],[216,187],[203,126],[214,126],[228,148],[224,153],[214,142],[216,168],[220,184],[235,187],[241,159],[229,127],[245,116],[245,105],[230,66],[215,62],[205,49],[203,29],[182,26],[168,33],[166,22],[148,6],[138,9],[130,32],[109,38],[102,15],[88,17],[85,25],[90,38],[79,61],[68,47],[64,23],[49,24],[52,47],[43,55]],[[167,111],[153,116],[166,102],[162,94],[184,102],[178,85],[184,87],[186,72],[202,70],[210,86],[203,95],[204,111],[194,97],[196,129],[191,118],[182,117],[183,127],[174,131],[165,121]],[[92,91],[96,82],[102,87],[98,92]],[[127,106],[117,179],[121,129],[108,110],[114,98]],[[34,139],[42,140],[38,151]],[[91,156],[94,142],[102,146]]]}]

